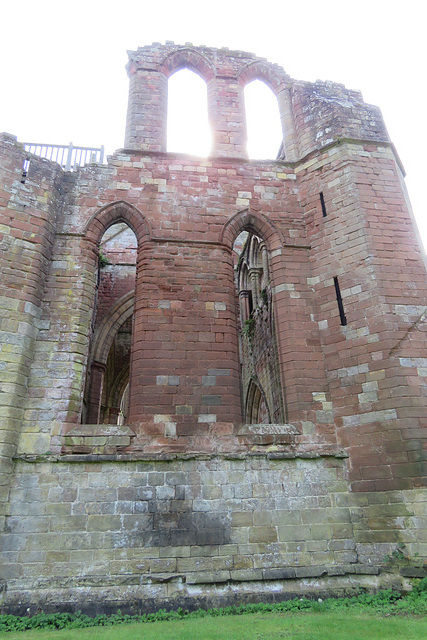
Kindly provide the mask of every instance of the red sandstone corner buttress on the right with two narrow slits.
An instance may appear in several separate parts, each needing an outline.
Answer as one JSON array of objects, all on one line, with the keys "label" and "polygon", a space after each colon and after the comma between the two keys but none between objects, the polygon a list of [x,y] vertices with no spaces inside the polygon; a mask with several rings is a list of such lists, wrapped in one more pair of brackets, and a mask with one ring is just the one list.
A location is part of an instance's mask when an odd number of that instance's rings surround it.
[{"label": "red sandstone corner buttress on the right with two narrow slits", "polygon": [[314,180],[301,174],[328,384],[356,490],[409,488],[407,476],[426,471],[426,278],[399,172],[385,149],[354,146]]}]

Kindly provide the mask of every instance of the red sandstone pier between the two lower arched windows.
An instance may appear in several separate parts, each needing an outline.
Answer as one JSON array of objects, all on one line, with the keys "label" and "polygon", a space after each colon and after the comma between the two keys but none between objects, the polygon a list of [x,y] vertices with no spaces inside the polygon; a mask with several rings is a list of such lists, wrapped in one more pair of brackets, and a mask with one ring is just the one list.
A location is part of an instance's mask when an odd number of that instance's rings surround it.
[{"label": "red sandstone pier between the two lower arched windows", "polygon": [[138,255],[128,422],[174,423],[181,436],[209,430],[207,415],[239,422],[241,402],[231,252],[178,247]]}]

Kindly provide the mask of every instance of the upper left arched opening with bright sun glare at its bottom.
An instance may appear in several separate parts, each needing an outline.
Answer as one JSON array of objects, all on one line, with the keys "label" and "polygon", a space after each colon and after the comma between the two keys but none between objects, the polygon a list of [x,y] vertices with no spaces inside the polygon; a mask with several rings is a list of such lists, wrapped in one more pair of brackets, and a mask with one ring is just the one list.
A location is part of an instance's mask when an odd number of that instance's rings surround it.
[{"label": "upper left arched opening with bright sun glare at its bottom", "polygon": [[167,150],[207,156],[212,145],[206,82],[182,69],[168,81]]}]

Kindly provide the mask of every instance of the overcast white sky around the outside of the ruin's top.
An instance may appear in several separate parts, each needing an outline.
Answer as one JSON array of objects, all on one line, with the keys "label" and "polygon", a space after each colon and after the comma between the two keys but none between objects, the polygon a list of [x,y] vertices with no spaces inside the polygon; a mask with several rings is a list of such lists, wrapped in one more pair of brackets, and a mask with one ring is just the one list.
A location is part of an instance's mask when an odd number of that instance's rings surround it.
[{"label": "overcast white sky around the outside of the ruin's top", "polygon": [[251,51],[381,108],[427,246],[424,13],[420,0],[2,0],[0,131],[112,153],[124,139],[126,50],[173,40]]}]

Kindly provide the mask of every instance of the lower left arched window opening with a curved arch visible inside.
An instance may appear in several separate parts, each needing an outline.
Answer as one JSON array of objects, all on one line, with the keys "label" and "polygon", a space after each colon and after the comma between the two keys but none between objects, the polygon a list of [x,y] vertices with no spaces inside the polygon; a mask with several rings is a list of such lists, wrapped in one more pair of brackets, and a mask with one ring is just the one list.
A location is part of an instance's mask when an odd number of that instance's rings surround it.
[{"label": "lower left arched window opening with a curved arch visible inside", "polygon": [[137,239],[126,222],[111,225],[99,243],[82,422],[123,424],[121,403],[132,348]]}]

